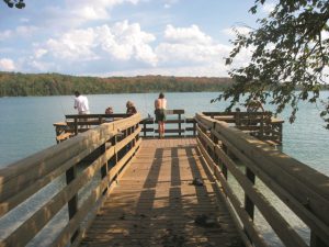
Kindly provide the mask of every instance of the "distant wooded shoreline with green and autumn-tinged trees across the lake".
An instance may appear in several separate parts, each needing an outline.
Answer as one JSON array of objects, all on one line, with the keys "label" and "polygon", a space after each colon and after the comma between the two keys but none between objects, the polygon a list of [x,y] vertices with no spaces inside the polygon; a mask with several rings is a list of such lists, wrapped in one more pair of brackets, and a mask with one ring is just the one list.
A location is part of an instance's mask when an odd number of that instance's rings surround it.
[{"label": "distant wooded shoreline with green and autumn-tinged trees across the lake", "polygon": [[76,77],[60,74],[0,72],[0,97],[67,96],[127,92],[200,92],[222,91],[229,78],[215,77]]}]

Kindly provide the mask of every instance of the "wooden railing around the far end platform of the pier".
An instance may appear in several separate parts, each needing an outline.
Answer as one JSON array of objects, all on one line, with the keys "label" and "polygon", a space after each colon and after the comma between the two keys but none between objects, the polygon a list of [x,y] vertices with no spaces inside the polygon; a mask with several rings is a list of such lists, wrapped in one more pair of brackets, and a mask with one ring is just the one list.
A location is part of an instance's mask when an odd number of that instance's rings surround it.
[{"label": "wooden railing around the far end platform of the pier", "polygon": [[[195,136],[195,120],[194,117],[184,117],[184,110],[167,110],[166,137]],[[232,124],[245,133],[272,145],[282,144],[282,124],[284,121],[274,119],[271,112],[203,112],[203,114]],[[124,113],[66,115],[65,122],[54,123],[56,141],[60,143],[105,122],[127,116],[129,114]],[[143,137],[158,136],[158,123],[155,122],[154,117],[141,120],[140,125]]]}]

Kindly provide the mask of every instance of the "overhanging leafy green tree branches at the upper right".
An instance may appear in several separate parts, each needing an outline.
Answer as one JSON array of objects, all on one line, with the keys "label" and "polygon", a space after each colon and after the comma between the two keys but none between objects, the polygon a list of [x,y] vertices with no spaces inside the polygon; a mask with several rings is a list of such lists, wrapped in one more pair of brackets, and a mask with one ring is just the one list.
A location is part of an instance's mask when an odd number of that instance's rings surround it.
[{"label": "overhanging leafy green tree branches at the upper right", "polygon": [[[266,0],[256,0],[249,10],[257,14]],[[241,96],[246,104],[258,97],[263,103],[275,105],[280,113],[292,106],[294,122],[298,102],[319,101],[319,91],[328,81],[329,61],[329,1],[280,0],[272,12],[258,20],[258,27],[248,34],[236,31],[234,48],[227,65],[234,65],[239,53],[252,50],[249,65],[231,68],[235,83],[216,100],[230,100],[231,109]],[[329,128],[329,99],[320,113]]]}]

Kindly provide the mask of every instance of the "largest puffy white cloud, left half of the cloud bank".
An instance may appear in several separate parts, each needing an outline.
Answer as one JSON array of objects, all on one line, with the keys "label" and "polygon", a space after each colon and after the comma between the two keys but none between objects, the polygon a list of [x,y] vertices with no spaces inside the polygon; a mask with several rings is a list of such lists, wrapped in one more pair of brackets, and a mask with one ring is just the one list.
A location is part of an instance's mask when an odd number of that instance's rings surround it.
[{"label": "largest puffy white cloud, left half of the cloud bank", "polygon": [[155,41],[152,34],[140,30],[138,23],[127,21],[113,26],[102,25],[87,30],[73,30],[59,38],[49,38],[46,44],[38,45],[35,58],[47,53],[57,59],[81,61],[93,59],[136,59],[156,65],[156,55],[149,45]]}]

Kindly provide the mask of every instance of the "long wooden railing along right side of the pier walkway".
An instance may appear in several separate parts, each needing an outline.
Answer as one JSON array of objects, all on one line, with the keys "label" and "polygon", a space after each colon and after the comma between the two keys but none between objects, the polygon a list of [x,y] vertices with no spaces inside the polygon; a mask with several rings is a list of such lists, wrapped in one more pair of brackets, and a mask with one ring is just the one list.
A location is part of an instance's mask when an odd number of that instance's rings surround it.
[{"label": "long wooden railing along right side of the pier walkway", "polygon": [[[254,246],[269,246],[254,224],[254,209],[258,209],[285,246],[329,246],[328,177],[228,123],[204,114],[196,114],[195,119],[197,145],[225,193],[224,199],[247,245],[251,242]],[[231,177],[238,182],[245,200],[239,200],[237,191],[229,186]],[[268,200],[266,190],[257,188],[256,179],[309,227],[309,243]]]}]

